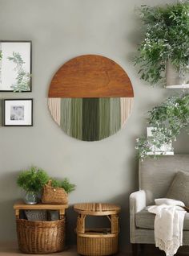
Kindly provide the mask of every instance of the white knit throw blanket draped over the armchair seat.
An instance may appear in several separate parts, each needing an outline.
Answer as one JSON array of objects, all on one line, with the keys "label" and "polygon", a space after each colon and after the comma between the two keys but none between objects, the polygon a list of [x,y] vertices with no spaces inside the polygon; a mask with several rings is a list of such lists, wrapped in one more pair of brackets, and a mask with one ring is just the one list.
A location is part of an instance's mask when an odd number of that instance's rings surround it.
[{"label": "white knit throw blanket draped over the armchair seat", "polygon": [[[163,203],[163,204],[161,204]],[[149,207],[155,213],[155,246],[164,250],[167,256],[176,254],[179,246],[183,246],[183,221],[185,213],[183,202],[170,199],[157,199]],[[179,205],[179,206],[178,206]]]}]

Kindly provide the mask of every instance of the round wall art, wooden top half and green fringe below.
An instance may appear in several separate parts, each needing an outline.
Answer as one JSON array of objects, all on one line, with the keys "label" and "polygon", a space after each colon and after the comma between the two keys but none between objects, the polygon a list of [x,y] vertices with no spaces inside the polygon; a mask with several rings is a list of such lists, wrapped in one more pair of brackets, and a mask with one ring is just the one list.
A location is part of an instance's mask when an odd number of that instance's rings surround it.
[{"label": "round wall art, wooden top half and green fringe below", "polygon": [[48,105],[71,137],[97,141],[115,134],[131,114],[134,93],[127,73],[104,56],[78,56],[55,73]]}]

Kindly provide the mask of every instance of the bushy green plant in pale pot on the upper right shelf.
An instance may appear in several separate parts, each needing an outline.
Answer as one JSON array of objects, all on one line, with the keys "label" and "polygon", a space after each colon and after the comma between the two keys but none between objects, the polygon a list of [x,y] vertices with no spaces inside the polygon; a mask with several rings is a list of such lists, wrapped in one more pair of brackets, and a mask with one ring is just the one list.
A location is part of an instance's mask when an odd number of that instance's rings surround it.
[{"label": "bushy green plant in pale pot on the upper right shelf", "polygon": [[[189,84],[189,2],[166,6],[142,6],[140,18],[145,27],[135,64],[151,85],[171,88]],[[189,86],[189,85],[188,85]]]}]

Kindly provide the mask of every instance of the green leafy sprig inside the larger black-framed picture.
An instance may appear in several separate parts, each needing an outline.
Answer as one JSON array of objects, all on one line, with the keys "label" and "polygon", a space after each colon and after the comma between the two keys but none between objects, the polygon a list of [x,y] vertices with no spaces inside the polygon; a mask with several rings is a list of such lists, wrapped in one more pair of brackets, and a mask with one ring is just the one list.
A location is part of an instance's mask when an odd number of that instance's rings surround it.
[{"label": "green leafy sprig inside the larger black-framed picture", "polygon": [[25,62],[22,60],[22,56],[19,52],[13,52],[13,56],[8,57],[15,64],[14,70],[17,72],[16,83],[10,87],[14,92],[22,92],[30,90],[30,73],[26,72],[23,64]]}]

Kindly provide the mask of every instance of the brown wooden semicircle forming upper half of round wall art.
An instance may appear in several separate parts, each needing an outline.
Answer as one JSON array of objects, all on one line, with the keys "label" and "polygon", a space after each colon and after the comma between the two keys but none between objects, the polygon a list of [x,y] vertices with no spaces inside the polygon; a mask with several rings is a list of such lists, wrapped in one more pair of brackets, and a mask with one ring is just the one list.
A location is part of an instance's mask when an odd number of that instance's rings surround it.
[{"label": "brown wooden semicircle forming upper half of round wall art", "polygon": [[134,97],[127,72],[99,55],[75,57],[55,73],[48,97]]}]

